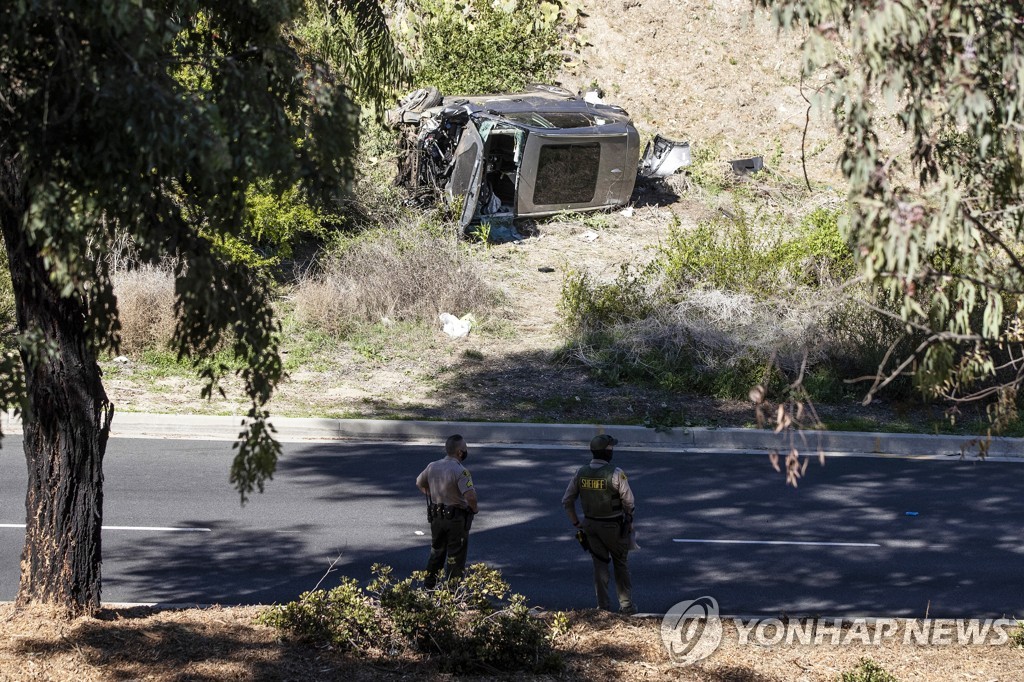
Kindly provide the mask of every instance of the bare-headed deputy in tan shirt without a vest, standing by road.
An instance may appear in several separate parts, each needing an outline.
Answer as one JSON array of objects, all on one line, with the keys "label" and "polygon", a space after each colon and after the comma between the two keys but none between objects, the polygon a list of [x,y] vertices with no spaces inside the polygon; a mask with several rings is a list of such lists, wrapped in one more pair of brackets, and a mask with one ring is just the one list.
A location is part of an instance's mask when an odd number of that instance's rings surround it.
[{"label": "bare-headed deputy in tan shirt without a vest, standing by road", "polygon": [[473,477],[463,466],[469,457],[466,440],[458,433],[444,442],[446,457],[427,465],[416,477],[416,486],[427,496],[430,521],[430,558],[424,585],[433,588],[443,567],[445,580],[462,578],[469,548],[469,527],[476,515]]}]

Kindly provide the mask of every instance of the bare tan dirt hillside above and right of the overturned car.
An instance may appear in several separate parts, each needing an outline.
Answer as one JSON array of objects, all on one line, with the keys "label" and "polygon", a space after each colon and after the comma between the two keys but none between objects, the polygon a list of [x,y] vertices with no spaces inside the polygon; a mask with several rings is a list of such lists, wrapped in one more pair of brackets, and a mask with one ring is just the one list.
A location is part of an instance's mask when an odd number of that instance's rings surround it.
[{"label": "bare tan dirt hillside above and right of the overturned car", "polygon": [[[586,13],[583,65],[562,75],[566,87],[596,85],[648,136],[716,144],[726,159],[781,153],[776,170],[801,175],[800,36],[751,0],[588,0]],[[837,181],[830,122],[812,116],[806,148],[812,179]]]}]

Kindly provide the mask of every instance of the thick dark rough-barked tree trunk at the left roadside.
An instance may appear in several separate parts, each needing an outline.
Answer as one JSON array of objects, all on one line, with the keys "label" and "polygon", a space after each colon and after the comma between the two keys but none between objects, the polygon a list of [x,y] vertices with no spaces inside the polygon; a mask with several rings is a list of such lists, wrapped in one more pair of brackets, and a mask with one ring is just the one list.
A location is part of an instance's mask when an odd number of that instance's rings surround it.
[{"label": "thick dark rough-barked tree trunk at the left roadside", "polygon": [[102,459],[114,408],[87,336],[85,303],[60,296],[27,239],[28,190],[17,159],[4,152],[0,144],[0,230],[17,325],[29,343],[36,337],[46,344],[22,350],[29,489],[17,604],[91,614],[99,608]]}]

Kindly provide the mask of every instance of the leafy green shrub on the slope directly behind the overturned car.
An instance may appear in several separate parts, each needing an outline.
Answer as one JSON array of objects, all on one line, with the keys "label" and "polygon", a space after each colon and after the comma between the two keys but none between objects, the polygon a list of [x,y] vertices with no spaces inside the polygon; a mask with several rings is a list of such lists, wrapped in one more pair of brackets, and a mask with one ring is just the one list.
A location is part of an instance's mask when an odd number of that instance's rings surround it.
[{"label": "leafy green shrub on the slope directly behind the overturned car", "polygon": [[550,79],[561,61],[558,5],[553,3],[412,0],[404,4],[407,11],[396,20],[396,39],[411,57],[417,87],[433,86],[445,94],[515,91]]}]

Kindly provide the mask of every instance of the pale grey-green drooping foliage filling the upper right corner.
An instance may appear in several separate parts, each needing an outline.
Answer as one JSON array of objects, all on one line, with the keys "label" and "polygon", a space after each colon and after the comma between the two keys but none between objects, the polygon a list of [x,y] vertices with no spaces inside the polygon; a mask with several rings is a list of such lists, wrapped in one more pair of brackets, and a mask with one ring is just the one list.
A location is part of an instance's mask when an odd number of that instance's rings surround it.
[{"label": "pale grey-green drooping foliage filling the upper right corner", "polygon": [[767,4],[806,31],[805,77],[830,76],[820,101],[844,141],[861,271],[901,300],[915,337],[867,399],[914,371],[926,394],[1013,413],[1024,383],[1024,5]]}]

